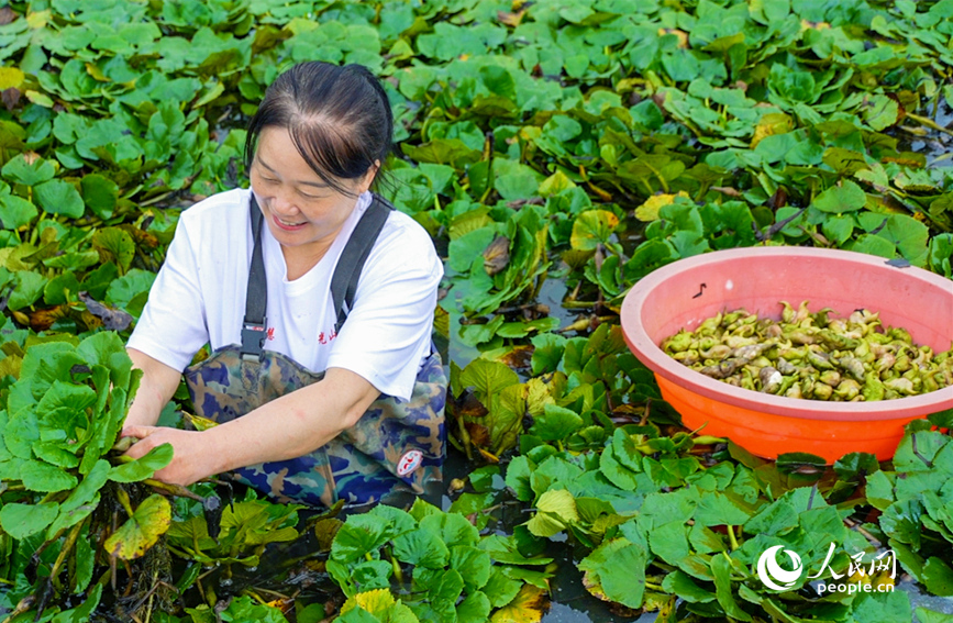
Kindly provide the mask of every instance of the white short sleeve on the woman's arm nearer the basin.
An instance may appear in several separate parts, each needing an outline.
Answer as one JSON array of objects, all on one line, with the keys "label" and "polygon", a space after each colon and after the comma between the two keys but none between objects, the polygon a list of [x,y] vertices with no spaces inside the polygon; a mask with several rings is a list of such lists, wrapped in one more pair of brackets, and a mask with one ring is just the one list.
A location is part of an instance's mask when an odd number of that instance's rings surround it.
[{"label": "white short sleeve on the woman's arm nearer the basin", "polygon": [[368,256],[328,367],[348,369],[381,393],[409,400],[430,354],[443,266],[426,232],[403,214],[394,216],[409,224]]}]

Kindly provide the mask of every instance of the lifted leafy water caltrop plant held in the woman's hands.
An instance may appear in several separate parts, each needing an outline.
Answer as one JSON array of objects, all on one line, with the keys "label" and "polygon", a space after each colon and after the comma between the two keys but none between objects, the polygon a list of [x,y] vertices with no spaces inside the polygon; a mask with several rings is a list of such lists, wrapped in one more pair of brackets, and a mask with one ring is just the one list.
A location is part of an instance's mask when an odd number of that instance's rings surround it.
[{"label": "lifted leafy water caltrop plant held in the woman's hands", "polygon": [[[141,375],[122,340],[102,332],[32,345],[19,378],[0,392],[0,527],[11,605],[33,596],[27,603],[42,613],[60,596],[85,592],[97,558],[133,560],[168,530],[168,500],[152,494],[133,509],[126,487],[167,465],[171,446],[132,461],[113,452]],[[102,508],[104,498],[112,503]],[[100,592],[97,585],[90,599]]]}]

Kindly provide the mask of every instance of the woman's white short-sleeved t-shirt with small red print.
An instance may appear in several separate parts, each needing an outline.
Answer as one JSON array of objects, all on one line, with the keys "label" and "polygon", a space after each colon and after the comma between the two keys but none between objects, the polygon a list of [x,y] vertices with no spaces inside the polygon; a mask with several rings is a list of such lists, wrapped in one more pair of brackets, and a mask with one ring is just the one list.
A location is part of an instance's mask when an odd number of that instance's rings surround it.
[{"label": "woman's white short-sleeved t-shirt with small red print", "polygon": [[[148,303],[129,346],[184,370],[206,343],[213,351],[241,344],[252,262],[252,192],[235,189],[184,211]],[[268,281],[265,349],[311,371],[346,368],[381,393],[409,400],[430,355],[433,310],[443,265],[426,231],[391,211],[361,272],[354,308],[334,334],[331,277],[357,221],[365,192],[324,257],[288,281],[285,256],[262,226]]]}]

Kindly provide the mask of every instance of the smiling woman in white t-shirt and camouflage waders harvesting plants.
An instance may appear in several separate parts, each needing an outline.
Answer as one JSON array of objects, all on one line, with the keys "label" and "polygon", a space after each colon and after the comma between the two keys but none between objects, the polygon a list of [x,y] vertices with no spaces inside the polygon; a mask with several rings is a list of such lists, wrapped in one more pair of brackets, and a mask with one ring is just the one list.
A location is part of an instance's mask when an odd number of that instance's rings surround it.
[{"label": "smiling woman in white t-shirt and camouflage waders harvesting plants", "polygon": [[[182,212],[128,344],[144,372],[128,454],[170,443],[158,479],[235,470],[279,500],[331,504],[440,478],[446,379],[431,331],[443,268],[426,232],[368,192],[391,136],[366,68],[297,65],[250,122],[251,189]],[[220,425],[156,427],[206,343],[212,356],[186,381],[196,412]]]}]

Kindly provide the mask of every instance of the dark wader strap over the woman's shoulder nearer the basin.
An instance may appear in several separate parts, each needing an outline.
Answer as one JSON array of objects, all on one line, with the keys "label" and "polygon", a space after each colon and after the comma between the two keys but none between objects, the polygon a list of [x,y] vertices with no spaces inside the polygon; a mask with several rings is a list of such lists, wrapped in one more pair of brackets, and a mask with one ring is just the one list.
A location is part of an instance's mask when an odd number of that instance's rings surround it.
[{"label": "dark wader strap over the woman's shoulder nearer the basin", "polygon": [[354,303],[354,293],[357,291],[361,270],[364,268],[364,263],[367,262],[367,256],[370,254],[370,248],[377,241],[380,230],[384,229],[388,214],[394,210],[394,205],[386,199],[377,193],[374,193],[373,197],[370,205],[361,216],[361,221],[351,233],[347,244],[344,245],[344,251],[341,252],[341,258],[334,268],[334,276],[331,278],[331,298],[334,301],[334,313],[337,316],[334,333],[339,333],[344,321],[347,320],[347,314]]}]

